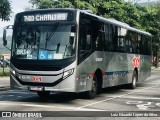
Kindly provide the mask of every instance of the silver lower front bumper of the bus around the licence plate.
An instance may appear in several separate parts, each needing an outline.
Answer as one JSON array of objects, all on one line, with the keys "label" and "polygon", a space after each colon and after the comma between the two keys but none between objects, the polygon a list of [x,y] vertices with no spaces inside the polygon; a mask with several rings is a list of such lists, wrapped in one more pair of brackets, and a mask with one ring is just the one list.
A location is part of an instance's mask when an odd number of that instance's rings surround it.
[{"label": "silver lower front bumper of the bus around the licence plate", "polygon": [[14,75],[10,75],[10,86],[11,89],[20,89],[20,90],[30,90],[30,91],[53,91],[53,92],[76,92],[76,85],[75,85],[75,79],[73,78],[73,75],[66,78],[65,80],[61,81],[55,86],[50,86],[49,83],[47,85],[36,85],[36,84],[22,84],[19,82],[17,77]]}]

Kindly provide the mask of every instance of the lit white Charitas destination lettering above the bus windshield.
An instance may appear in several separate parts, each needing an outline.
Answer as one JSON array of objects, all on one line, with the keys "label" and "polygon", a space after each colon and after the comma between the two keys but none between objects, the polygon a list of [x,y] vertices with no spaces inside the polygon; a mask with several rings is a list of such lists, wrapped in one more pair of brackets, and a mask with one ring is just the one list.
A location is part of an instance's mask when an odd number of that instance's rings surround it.
[{"label": "lit white Charitas destination lettering above the bus windshield", "polygon": [[67,20],[68,13],[50,13],[23,16],[24,22]]}]

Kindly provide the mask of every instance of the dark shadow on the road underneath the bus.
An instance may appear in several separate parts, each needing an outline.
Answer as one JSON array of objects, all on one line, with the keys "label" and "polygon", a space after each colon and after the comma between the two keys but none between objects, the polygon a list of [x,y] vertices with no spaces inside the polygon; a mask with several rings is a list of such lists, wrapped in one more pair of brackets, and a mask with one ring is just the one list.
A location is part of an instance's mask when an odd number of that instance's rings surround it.
[{"label": "dark shadow on the road underneath the bus", "polygon": [[[105,88],[102,90],[102,94],[116,94],[116,93],[122,93],[125,92],[123,91],[124,86],[118,86],[118,87],[110,87],[110,88]],[[47,99],[41,99],[36,92],[10,92],[7,93],[6,95],[14,95],[14,99],[8,99],[8,101],[16,101],[16,102],[31,102],[31,103],[65,103],[69,104],[72,101],[76,99],[84,99],[84,100],[89,100],[86,98],[85,93],[56,93],[53,92],[50,94],[49,98]],[[21,98],[18,96],[22,96]],[[98,94],[96,98],[102,97],[101,94]],[[4,101],[5,99],[3,98]]]}]

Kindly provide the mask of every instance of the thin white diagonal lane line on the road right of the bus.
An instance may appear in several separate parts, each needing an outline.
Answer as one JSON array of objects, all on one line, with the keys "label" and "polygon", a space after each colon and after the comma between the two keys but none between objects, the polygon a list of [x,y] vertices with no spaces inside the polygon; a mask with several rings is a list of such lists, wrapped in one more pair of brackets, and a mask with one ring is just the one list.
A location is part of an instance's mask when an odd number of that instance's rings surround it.
[{"label": "thin white diagonal lane line on the road right of the bus", "polygon": [[121,97],[130,95],[130,94],[133,94],[133,93],[141,92],[141,91],[143,91],[143,90],[147,90],[147,89],[154,88],[154,87],[158,87],[158,86],[160,86],[160,85],[155,85],[155,86],[147,87],[147,88],[144,88],[144,89],[141,89],[141,90],[136,90],[136,91],[129,92],[129,93],[126,93],[126,94],[123,94],[123,95],[120,95],[120,96],[113,97],[113,98],[105,99],[105,100],[98,101],[98,102],[93,102],[93,103],[90,103],[90,104],[87,104],[87,105],[80,106],[80,107],[78,107],[78,108],[79,108],[79,109],[85,108],[85,107],[88,107],[88,106],[92,106],[92,105],[99,104],[99,103],[102,103],[102,102],[105,102],[105,101],[109,101],[109,100],[113,100],[113,99],[116,99],[116,98],[121,98]]}]

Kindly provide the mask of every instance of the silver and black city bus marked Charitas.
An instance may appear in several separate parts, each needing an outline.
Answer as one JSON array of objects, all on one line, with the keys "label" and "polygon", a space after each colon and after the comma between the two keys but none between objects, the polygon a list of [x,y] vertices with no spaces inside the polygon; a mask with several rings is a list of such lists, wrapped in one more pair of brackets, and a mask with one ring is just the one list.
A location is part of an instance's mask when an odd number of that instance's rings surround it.
[{"label": "silver and black city bus marked Charitas", "polygon": [[78,9],[41,9],[18,13],[13,26],[10,86],[35,91],[85,93],[93,99],[103,88],[134,89],[151,74],[152,35],[112,18]]}]

